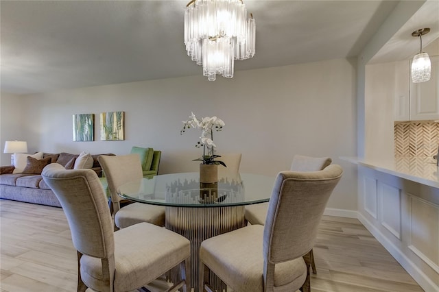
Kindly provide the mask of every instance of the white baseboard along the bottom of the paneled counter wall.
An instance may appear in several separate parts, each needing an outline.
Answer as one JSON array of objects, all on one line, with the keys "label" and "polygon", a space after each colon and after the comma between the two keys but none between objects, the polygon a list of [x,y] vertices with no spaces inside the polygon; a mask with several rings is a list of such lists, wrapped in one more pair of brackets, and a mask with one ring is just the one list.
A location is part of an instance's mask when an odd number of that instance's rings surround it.
[{"label": "white baseboard along the bottom of the paneled counter wall", "polygon": [[364,215],[357,212],[359,221],[369,230],[370,233],[383,245],[395,260],[414,278],[419,286],[424,291],[439,291],[439,286],[436,285],[430,278],[428,278],[423,271],[421,271],[410,258],[408,258],[398,247],[396,247],[391,241],[389,241],[385,235],[376,228]]}]

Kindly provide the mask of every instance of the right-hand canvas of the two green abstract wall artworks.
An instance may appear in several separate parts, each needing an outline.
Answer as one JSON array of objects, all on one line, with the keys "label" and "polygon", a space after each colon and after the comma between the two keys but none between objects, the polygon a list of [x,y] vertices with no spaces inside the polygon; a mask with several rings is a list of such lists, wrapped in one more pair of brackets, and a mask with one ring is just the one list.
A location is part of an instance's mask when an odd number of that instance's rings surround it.
[{"label": "right-hand canvas of the two green abstract wall artworks", "polygon": [[101,112],[101,141],[123,140],[125,112]]}]

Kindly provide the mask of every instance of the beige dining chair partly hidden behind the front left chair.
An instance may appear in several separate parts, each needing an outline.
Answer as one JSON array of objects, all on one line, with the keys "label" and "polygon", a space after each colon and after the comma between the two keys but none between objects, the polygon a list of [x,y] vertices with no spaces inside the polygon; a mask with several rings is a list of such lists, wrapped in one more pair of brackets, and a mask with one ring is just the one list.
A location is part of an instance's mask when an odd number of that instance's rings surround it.
[{"label": "beige dining chair partly hidden behind the front left chair", "polygon": [[111,195],[112,216],[115,219],[115,230],[126,228],[139,222],[148,222],[157,226],[165,226],[165,207],[142,203],[132,203],[120,207],[123,199],[117,194],[118,188],[127,182],[141,180],[143,171],[138,154],[120,156],[99,156],[97,158],[108,181]]}]

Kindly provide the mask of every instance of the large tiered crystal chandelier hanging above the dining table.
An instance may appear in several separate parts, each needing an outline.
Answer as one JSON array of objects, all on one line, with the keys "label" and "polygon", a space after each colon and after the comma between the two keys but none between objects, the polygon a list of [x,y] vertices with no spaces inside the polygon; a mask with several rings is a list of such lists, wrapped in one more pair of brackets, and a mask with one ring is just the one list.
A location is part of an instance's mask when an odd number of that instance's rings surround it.
[{"label": "large tiered crystal chandelier hanging above the dining table", "polygon": [[235,60],[254,56],[255,37],[256,23],[252,14],[247,19],[241,0],[192,0],[186,6],[187,55],[209,81],[217,74],[232,78]]}]

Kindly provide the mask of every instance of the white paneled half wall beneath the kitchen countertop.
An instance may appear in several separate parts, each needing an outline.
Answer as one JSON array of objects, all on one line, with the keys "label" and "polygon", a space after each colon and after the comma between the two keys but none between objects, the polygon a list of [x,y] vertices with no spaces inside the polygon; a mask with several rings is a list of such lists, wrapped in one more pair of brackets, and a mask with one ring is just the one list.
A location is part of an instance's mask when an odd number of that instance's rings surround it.
[{"label": "white paneled half wall beneath the kitchen countertop", "polygon": [[439,189],[359,166],[359,219],[425,291],[439,291]]}]

